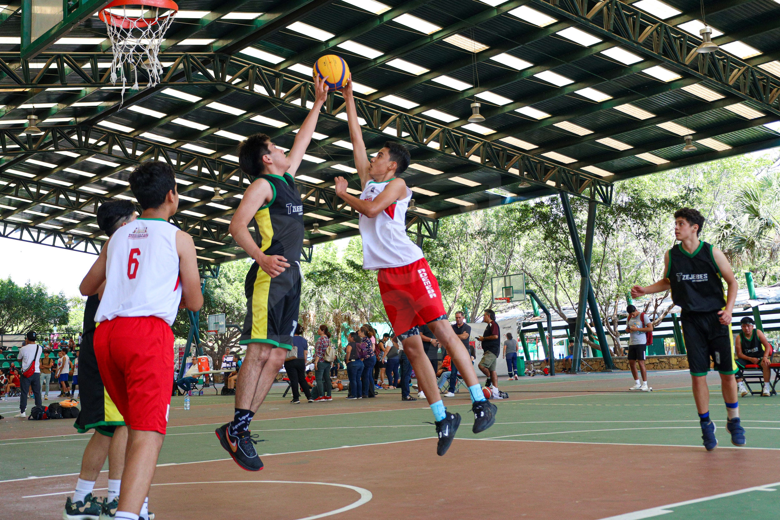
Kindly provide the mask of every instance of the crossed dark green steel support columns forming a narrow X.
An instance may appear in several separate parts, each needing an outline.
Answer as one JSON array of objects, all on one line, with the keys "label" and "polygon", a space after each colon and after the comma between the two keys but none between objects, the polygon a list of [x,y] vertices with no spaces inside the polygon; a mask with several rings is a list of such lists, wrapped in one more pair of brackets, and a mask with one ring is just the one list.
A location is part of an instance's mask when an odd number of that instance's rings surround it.
[{"label": "crossed dark green steel support columns forming a narrow X", "polygon": [[[577,232],[576,223],[574,221],[574,215],[572,213],[572,207],[569,204],[569,195],[561,193],[561,203],[563,205],[563,213],[566,215],[566,224],[569,226],[569,235],[572,239],[572,246],[574,249],[574,256],[577,260],[577,267],[580,269],[580,288],[583,289],[583,285],[587,286],[587,303],[590,306],[590,314],[593,316],[594,328],[596,329],[596,335],[598,337],[598,344],[601,347],[601,356],[604,358],[604,366],[606,370],[612,370],[612,356],[609,353],[607,346],[607,336],[604,333],[604,327],[601,324],[601,313],[598,310],[598,303],[596,302],[596,295],[593,291],[593,286],[590,284],[590,253],[593,249],[593,235],[596,221],[596,203],[591,200],[588,205],[588,230],[586,233],[586,240],[590,236],[590,241],[586,241],[587,257],[583,252],[582,244],[580,243],[580,233]],[[584,292],[584,291],[583,291]],[[580,294],[580,302],[583,302],[584,294]],[[580,320],[582,317],[582,320]],[[572,370],[580,371],[580,358],[582,357],[582,327],[585,319],[585,306],[580,304],[580,308],[577,310],[577,321],[579,322],[577,327],[579,332],[577,336],[580,338],[579,344],[575,342]]]}]

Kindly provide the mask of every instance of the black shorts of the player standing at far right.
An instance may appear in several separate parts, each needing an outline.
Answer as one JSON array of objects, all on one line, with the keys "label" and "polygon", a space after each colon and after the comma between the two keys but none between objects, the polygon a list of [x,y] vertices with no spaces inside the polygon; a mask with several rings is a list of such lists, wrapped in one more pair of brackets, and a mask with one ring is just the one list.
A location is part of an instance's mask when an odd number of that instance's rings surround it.
[{"label": "black shorts of the player standing at far right", "polygon": [[734,338],[730,327],[718,320],[718,311],[683,313],[681,323],[690,375],[706,376],[710,371],[710,360],[714,370],[722,374],[737,373]]}]

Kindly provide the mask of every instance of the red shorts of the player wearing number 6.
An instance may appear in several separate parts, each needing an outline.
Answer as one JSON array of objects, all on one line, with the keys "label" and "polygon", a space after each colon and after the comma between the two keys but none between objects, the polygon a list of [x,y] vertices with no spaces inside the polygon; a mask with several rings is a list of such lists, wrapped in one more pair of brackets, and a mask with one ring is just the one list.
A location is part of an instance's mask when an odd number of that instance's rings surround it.
[{"label": "red shorts of the player wearing number 6", "polygon": [[117,317],[94,333],[97,368],[127,426],[165,435],[173,383],[173,332],[158,317]]}]

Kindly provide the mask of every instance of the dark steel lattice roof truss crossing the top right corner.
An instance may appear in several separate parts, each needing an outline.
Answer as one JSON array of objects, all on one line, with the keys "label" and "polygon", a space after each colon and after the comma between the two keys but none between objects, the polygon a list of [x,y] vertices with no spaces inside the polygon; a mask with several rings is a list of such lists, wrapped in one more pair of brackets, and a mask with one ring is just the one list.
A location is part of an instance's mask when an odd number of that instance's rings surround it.
[{"label": "dark steel lattice roof truss crossing the top right corner", "polygon": [[698,38],[620,0],[564,0],[557,5],[545,0],[532,2],[556,16],[575,20],[594,34],[612,38],[780,115],[780,80],[724,51],[697,53]]}]

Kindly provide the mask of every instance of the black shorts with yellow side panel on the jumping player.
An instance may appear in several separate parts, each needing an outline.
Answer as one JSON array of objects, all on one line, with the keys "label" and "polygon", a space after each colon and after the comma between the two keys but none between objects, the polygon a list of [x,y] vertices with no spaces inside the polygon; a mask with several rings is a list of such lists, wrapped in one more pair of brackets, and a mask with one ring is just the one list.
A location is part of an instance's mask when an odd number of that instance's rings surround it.
[{"label": "black shorts with yellow side panel on the jumping player", "polygon": [[255,262],[246,273],[246,320],[240,345],[270,343],[293,350],[293,334],[300,311],[300,267],[292,263],[271,278]]}]

